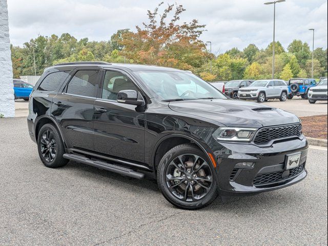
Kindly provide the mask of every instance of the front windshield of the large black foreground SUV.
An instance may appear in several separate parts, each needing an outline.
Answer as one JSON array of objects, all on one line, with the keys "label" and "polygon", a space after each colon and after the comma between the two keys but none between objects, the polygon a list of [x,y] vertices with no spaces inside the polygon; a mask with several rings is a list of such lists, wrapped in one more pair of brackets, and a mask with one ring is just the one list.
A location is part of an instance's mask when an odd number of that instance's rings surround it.
[{"label": "front windshield of the large black foreground SUV", "polygon": [[227,99],[206,81],[188,72],[136,71],[153,96],[163,100]]}]

